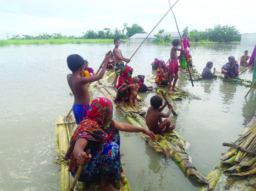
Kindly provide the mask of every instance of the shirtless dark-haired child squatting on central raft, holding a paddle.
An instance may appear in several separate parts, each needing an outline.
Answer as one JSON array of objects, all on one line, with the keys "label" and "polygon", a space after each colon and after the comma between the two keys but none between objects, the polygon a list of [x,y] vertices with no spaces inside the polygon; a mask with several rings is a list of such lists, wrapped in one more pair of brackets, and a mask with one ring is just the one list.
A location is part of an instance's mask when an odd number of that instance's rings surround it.
[{"label": "shirtless dark-haired child squatting on central raft, holding a paddle", "polygon": [[[171,114],[172,105],[168,105],[168,103],[164,103],[160,96],[153,96],[150,99],[151,106],[148,108],[146,115],[146,124],[148,129],[151,130],[154,134],[162,134],[162,132],[170,132],[175,129],[175,125],[171,125],[170,119],[165,119],[163,121],[162,118],[168,118]],[[163,105],[163,106],[162,106]],[[168,113],[162,113],[163,109],[168,105]],[[161,107],[162,106],[162,107]]]}]

